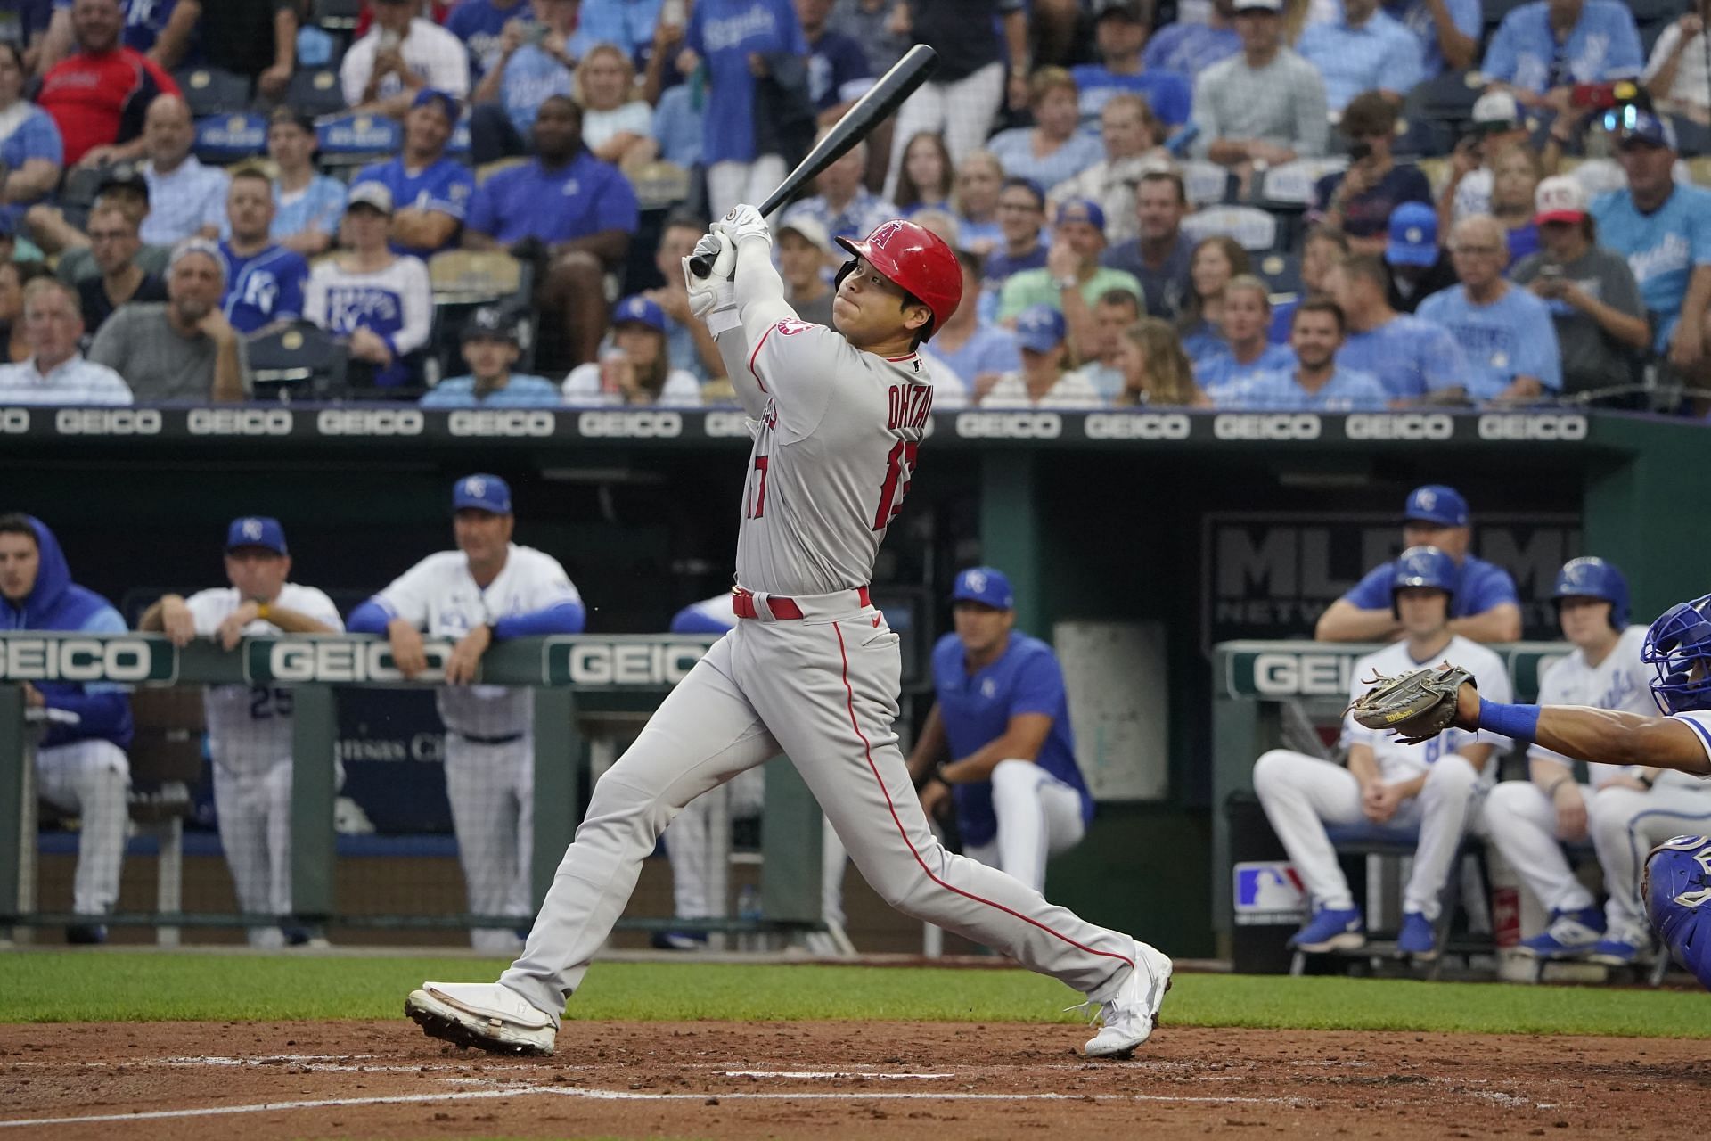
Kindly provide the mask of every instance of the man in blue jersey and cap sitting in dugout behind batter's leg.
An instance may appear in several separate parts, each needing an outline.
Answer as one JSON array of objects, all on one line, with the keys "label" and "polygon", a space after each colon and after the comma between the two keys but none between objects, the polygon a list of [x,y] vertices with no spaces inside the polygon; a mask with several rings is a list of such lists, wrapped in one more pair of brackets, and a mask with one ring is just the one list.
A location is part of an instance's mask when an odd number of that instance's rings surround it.
[{"label": "man in blue jersey and cap sitting in dugout behind batter's leg", "polygon": [[938,700],[909,773],[929,819],[955,802],[963,855],[1044,891],[1047,857],[1080,843],[1093,819],[1063,669],[1049,645],[1015,630],[1001,571],[956,575],[951,612],[956,631],[932,648]]}]

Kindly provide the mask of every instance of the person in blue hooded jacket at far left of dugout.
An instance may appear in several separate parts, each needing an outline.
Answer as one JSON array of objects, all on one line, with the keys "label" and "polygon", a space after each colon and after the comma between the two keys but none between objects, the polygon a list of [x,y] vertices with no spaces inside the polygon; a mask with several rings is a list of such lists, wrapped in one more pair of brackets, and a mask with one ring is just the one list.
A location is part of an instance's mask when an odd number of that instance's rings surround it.
[{"label": "person in blue hooded jacket at far left of dugout", "polygon": [[[0,630],[125,633],[125,619],[94,590],[72,582],[60,541],[31,515],[0,515]],[[130,821],[130,698],[111,683],[24,684],[33,720],[46,724],[36,742],[36,792],[80,821],[67,943],[104,943],[101,917],[118,902]]]}]

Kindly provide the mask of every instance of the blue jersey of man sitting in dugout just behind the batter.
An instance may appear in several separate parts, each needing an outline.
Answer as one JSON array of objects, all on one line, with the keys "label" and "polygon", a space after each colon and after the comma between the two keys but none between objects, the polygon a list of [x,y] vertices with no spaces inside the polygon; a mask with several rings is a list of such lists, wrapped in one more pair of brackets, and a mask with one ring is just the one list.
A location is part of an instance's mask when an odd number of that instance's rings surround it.
[{"label": "blue jersey of man sitting in dugout just behind the batter", "polygon": [[[1011,633],[996,662],[974,674],[963,665],[963,645],[944,635],[932,647],[932,688],[939,700],[939,724],[951,756],[962,760],[1009,727],[1021,713],[1044,713],[1052,729],[1033,763],[1064,782],[1081,797],[1081,819],[1093,819],[1093,797],[1075,763],[1075,734],[1069,730],[1069,698],[1064,674],[1052,648],[1039,638]],[[963,843],[987,843],[998,835],[992,814],[992,783],[951,785],[956,797],[956,826]]]}]

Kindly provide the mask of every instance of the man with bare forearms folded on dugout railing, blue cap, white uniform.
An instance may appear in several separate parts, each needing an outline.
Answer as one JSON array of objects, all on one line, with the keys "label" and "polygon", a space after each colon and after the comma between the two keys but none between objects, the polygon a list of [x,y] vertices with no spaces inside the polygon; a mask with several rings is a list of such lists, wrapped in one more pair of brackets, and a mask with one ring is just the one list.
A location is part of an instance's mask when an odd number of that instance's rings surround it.
[{"label": "man with bare forearms folded on dugout railing, blue cap, white uniform", "polygon": [[[287,582],[291,553],[277,518],[248,515],[226,530],[229,587],[188,599],[168,594],[142,612],[137,630],[164,631],[176,647],[214,638],[233,650],[243,638],[335,635],[339,609],[315,587]],[[291,689],[209,686],[204,693],[214,814],[238,907],[248,915],[291,913]],[[337,766],[335,758],[327,758]],[[340,782],[342,783],[342,778]],[[248,929],[250,946],[308,943],[301,927]]]}]

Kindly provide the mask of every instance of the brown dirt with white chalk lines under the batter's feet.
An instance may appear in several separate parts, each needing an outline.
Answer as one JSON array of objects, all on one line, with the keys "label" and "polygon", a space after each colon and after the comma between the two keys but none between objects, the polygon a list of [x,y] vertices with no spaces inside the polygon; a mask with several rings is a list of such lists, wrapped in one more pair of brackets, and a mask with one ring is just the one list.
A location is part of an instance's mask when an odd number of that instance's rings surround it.
[{"label": "brown dirt with white chalk lines under the batter's feet", "polygon": [[1694,1136],[1704,1042],[1162,1026],[566,1023],[493,1059],[388,1023],[0,1026],[5,1138]]}]

